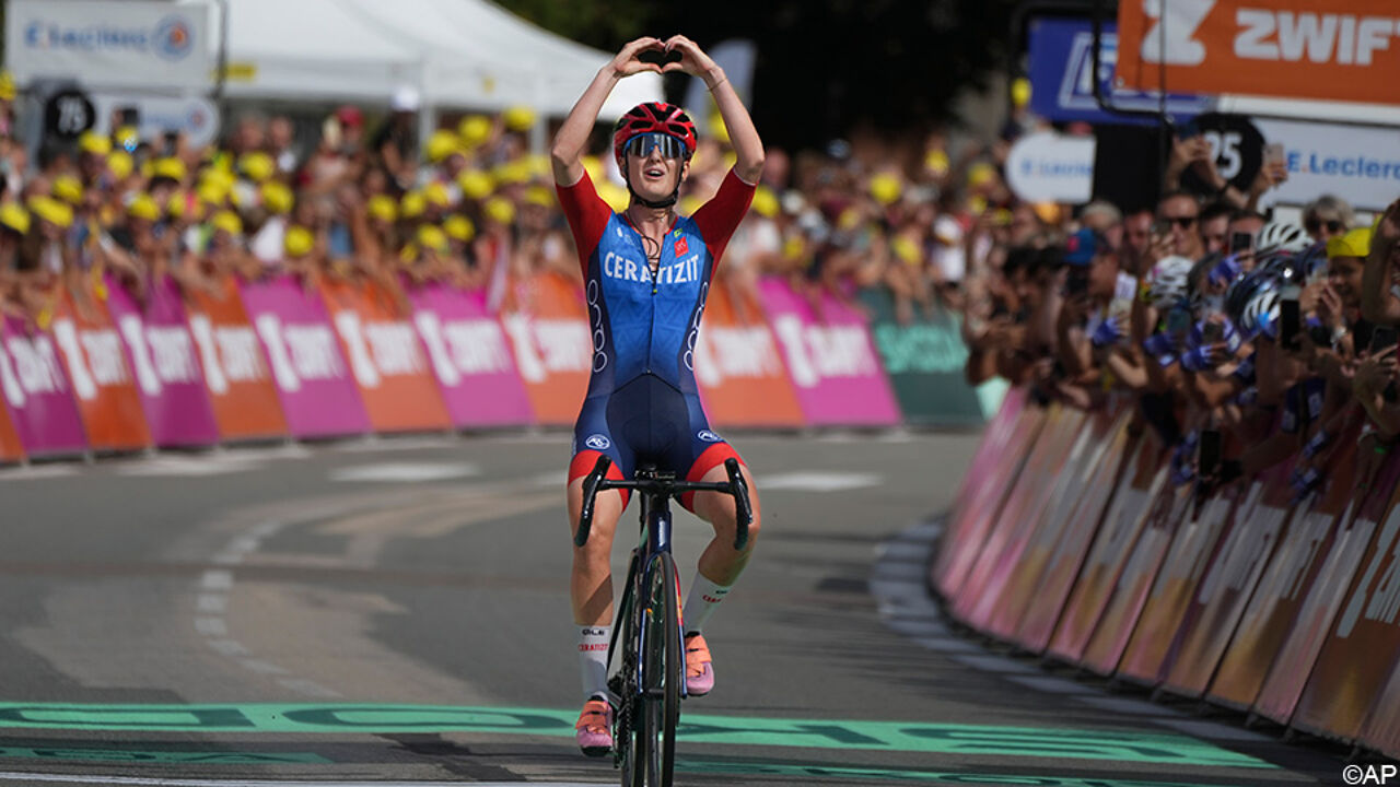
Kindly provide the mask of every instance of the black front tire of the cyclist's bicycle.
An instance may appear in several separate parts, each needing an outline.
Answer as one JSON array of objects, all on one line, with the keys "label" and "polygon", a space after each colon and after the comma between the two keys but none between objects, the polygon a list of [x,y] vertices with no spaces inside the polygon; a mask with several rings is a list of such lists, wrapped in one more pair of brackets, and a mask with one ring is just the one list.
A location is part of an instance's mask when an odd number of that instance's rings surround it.
[{"label": "black front tire of the cyclist's bicycle", "polygon": [[685,679],[675,560],[668,553],[652,556],[644,577],[643,695],[633,751],[641,765],[638,776],[645,776],[638,787],[671,787]]}]

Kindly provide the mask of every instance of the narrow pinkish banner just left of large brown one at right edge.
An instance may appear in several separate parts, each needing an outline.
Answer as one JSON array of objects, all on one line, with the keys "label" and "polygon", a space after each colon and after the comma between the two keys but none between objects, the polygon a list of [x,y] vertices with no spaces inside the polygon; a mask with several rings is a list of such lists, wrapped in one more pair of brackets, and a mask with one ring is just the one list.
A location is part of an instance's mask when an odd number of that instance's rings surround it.
[{"label": "narrow pinkish banner just left of large brown one at right edge", "polygon": [[1302,608],[1268,668],[1268,676],[1254,702],[1254,713],[1278,724],[1288,724],[1292,718],[1313,664],[1329,643],[1337,612],[1348,598],[1352,580],[1364,562],[1369,563],[1375,557],[1368,555],[1368,549],[1376,538],[1379,522],[1392,508],[1397,482],[1400,461],[1392,452],[1371,493],[1359,504],[1352,504],[1355,517],[1343,515],[1322,570],[1303,597]]}]

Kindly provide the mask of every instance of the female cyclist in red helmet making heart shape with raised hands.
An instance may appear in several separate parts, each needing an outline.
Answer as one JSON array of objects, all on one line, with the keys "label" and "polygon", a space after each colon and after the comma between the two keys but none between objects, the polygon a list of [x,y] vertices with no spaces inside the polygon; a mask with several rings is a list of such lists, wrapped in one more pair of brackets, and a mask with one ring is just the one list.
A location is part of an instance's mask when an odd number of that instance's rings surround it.
[{"label": "female cyclist in red helmet making heart shape with raised hands", "polygon": [[[640,59],[648,52],[680,59],[662,67]],[[694,216],[675,211],[696,150],[694,123],[678,106],[637,105],[613,129],[613,155],[631,193],[627,210],[613,213],[584,171],[581,155],[603,101],[619,80],[641,71],[685,71],[704,80],[729,130],[734,169]],[[682,35],[668,41],[638,38],[594,77],[554,137],[552,160],[560,204],[578,245],[594,339],[594,371],[574,426],[568,466],[573,532],[584,476],[602,454],[612,459],[616,479],[631,478],[638,464],[650,462],[659,471],[704,482],[725,480],[724,461],[738,458],[710,430],[700,408],[693,351],[714,270],[763,172],[763,143],[724,70],[694,42]],[[734,549],[732,497],[701,492],[682,499],[715,534],[700,556],[682,611],[690,696],[714,688],[710,650],[700,632],[739,577],[759,534],[753,478],[746,466],[742,472],[753,496],[753,525],[743,552]],[[574,549],[570,578],[585,697],[577,738],[591,756],[606,755],[613,742],[606,674],[613,616],[609,555],[626,506],[620,490],[598,494],[592,535]]]}]

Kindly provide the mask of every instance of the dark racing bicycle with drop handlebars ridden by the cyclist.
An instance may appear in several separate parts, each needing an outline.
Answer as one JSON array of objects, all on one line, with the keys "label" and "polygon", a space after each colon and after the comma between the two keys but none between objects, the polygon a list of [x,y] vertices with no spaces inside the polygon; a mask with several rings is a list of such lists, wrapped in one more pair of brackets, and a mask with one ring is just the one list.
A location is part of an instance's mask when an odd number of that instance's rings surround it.
[{"label": "dark racing bicycle with drop handlebars ridden by the cyclist", "polygon": [[613,767],[622,787],[671,787],[676,752],[676,721],[685,696],[685,658],[680,653],[680,577],[671,556],[671,497],[685,492],[722,492],[734,496],[738,531],[734,549],[749,542],[753,508],[739,462],[725,459],[728,482],[676,480],[675,473],[643,465],[633,480],[610,480],[612,461],[599,457],[584,478],[584,504],[574,545],[584,546],[594,522],[594,497],[608,489],[634,489],[641,494],[641,539],[617,605],[617,625],[608,644],[608,668],[622,643],[617,672],[608,681],[616,697],[613,709]]}]

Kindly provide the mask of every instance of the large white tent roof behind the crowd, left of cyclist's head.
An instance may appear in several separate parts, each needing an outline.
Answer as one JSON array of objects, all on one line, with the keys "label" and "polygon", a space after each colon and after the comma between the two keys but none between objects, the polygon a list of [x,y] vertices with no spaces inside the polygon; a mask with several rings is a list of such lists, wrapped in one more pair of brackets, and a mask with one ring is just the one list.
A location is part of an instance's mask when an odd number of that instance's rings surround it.
[{"label": "large white tent roof behind the crowd, left of cyclist's head", "polygon": [[[217,14],[214,32],[217,42]],[[487,0],[237,0],[228,3],[224,91],[386,104],[410,85],[430,108],[524,104],[563,116],[610,57]],[[629,77],[601,118],[661,97],[659,76]]]}]

